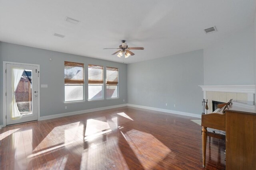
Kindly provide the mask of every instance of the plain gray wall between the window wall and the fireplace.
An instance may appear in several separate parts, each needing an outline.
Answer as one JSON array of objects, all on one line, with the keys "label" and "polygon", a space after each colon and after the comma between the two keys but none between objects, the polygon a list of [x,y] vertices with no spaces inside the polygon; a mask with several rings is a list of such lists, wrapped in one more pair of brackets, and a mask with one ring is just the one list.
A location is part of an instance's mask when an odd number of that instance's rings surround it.
[{"label": "plain gray wall between the window wall and the fireplace", "polygon": [[202,112],[203,50],[128,64],[127,77],[129,104]]}]

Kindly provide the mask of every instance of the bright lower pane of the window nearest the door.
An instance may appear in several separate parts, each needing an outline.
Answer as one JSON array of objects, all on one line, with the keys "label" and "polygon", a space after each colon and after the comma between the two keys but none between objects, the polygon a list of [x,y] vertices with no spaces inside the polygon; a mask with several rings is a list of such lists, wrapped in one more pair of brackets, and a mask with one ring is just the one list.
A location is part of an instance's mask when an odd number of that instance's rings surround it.
[{"label": "bright lower pane of the window nearest the door", "polygon": [[84,100],[83,85],[66,85],[65,84],[65,102]]}]

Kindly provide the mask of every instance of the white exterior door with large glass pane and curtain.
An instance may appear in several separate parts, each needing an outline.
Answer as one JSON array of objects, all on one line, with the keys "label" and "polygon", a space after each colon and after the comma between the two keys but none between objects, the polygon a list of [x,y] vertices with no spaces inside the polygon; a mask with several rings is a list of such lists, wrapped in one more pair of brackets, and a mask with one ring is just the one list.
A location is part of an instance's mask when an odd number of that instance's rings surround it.
[{"label": "white exterior door with large glass pane and curtain", "polygon": [[6,63],[6,125],[38,119],[37,66]]}]

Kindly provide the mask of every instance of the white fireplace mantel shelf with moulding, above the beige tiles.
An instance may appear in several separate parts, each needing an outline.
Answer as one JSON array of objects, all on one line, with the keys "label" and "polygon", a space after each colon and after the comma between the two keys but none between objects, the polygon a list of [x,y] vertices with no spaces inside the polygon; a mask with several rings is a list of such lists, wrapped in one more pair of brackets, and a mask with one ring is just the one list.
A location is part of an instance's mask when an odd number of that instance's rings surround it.
[{"label": "white fireplace mantel shelf with moulding, above the beige tiles", "polygon": [[217,86],[200,86],[206,92],[231,92],[231,93],[247,93],[248,101],[254,101],[255,85],[217,85]]}]

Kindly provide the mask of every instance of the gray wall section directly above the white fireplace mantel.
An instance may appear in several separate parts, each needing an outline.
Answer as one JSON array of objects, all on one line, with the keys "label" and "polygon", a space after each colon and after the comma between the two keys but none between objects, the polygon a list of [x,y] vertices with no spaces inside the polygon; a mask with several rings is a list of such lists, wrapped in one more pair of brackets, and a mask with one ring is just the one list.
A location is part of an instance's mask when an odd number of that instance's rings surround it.
[{"label": "gray wall section directly above the white fireplace mantel", "polygon": [[255,84],[254,25],[204,49],[204,85]]}]

